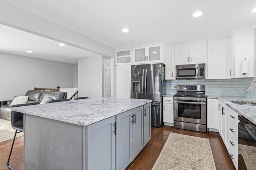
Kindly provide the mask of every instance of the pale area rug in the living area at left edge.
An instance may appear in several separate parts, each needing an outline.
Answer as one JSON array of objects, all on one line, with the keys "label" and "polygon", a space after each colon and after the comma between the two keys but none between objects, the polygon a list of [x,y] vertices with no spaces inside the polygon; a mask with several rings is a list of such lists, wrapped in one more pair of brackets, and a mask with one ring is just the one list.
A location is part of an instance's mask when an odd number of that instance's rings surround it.
[{"label": "pale area rug in the living area at left edge", "polygon": [[[0,142],[13,139],[15,129],[12,128],[11,121],[0,119]],[[16,137],[23,136],[23,132],[17,133]]]}]

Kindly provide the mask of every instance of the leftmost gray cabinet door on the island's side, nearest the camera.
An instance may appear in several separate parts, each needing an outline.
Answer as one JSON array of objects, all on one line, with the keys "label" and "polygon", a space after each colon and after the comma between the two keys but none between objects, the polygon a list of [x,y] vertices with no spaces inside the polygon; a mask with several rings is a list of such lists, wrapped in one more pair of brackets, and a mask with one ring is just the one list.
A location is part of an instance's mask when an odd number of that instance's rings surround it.
[{"label": "leftmost gray cabinet door on the island's side, nearest the camera", "polygon": [[86,139],[90,139],[86,144],[87,170],[115,169],[115,121],[112,116],[86,127]]}]

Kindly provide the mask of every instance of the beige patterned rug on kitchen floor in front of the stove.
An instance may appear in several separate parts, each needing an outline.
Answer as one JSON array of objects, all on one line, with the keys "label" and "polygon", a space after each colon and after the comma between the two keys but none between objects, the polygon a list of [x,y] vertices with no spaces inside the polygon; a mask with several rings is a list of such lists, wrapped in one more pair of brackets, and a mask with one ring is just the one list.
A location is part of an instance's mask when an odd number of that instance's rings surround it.
[{"label": "beige patterned rug on kitchen floor in front of the stove", "polygon": [[152,170],[216,170],[209,140],[170,133]]}]

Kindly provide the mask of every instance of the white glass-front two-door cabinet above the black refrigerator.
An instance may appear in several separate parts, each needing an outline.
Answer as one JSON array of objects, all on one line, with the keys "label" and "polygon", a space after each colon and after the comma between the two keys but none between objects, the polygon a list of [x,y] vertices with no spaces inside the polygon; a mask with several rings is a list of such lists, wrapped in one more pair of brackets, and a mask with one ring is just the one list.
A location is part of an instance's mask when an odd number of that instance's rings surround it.
[{"label": "white glass-front two-door cabinet above the black refrigerator", "polygon": [[163,63],[163,45],[148,45],[133,48],[133,64]]}]

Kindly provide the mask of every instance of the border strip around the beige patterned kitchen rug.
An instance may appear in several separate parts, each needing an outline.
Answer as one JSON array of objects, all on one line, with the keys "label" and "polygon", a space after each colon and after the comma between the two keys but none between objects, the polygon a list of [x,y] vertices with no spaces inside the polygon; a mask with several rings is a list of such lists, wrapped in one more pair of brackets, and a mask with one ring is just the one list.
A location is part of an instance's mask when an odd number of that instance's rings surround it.
[{"label": "border strip around the beige patterned kitchen rug", "polygon": [[[183,135],[183,134],[179,134],[179,133],[172,133],[172,132],[170,133],[168,139],[166,140],[166,143],[164,144],[164,147],[163,147],[163,149],[161,150],[161,152],[160,152],[160,154],[159,154],[159,156],[158,156],[158,158],[157,158],[157,160],[156,160],[156,162],[155,162],[155,164],[154,164],[152,170],[156,170],[156,166],[158,165],[158,162],[160,161],[160,158],[162,157],[162,154],[164,153],[164,149],[165,149],[166,146],[168,145],[168,141],[170,140],[170,137],[171,137],[172,134],[175,134],[175,135],[182,135],[182,136],[189,136],[189,137],[200,138],[200,139],[206,140],[207,143],[208,143],[208,146],[210,147],[210,157],[211,157],[212,162],[213,162],[213,166],[214,166],[213,168],[216,170],[216,166],[215,166],[215,162],[214,162],[214,158],[213,158],[212,149],[211,149],[211,145],[210,145],[209,139],[207,139],[207,138],[202,138],[202,137],[190,136],[190,135]],[[170,169],[168,169],[168,170],[170,170]]]}]

